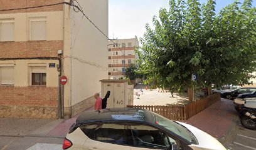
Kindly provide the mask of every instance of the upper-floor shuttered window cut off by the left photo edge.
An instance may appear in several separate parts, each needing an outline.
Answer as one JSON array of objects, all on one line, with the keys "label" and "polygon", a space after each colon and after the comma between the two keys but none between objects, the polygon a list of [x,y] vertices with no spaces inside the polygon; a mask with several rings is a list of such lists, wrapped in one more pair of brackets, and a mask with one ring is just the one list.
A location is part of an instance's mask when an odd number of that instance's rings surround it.
[{"label": "upper-floor shuttered window cut off by the left photo edge", "polygon": [[0,20],[0,41],[14,41],[14,19]]}]

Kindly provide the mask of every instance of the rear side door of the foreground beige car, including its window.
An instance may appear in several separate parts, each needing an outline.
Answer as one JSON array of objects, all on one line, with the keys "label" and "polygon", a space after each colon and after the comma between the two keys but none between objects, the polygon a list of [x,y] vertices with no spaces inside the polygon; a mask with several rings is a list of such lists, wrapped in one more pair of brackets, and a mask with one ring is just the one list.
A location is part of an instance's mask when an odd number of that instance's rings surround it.
[{"label": "rear side door of the foreground beige car, including its window", "polygon": [[90,134],[83,145],[85,150],[131,150],[127,139],[127,126],[118,123],[104,123]]}]

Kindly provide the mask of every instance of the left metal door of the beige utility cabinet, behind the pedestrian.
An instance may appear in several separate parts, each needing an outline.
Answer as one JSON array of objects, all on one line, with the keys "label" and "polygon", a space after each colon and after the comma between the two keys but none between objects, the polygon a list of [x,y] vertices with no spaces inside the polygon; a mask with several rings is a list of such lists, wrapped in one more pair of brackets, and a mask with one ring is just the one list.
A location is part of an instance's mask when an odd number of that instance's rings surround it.
[{"label": "left metal door of the beige utility cabinet, behind the pedestrian", "polygon": [[107,100],[107,108],[114,108],[114,83],[104,83],[103,86],[102,98],[105,97],[107,91],[110,91],[110,97]]}]

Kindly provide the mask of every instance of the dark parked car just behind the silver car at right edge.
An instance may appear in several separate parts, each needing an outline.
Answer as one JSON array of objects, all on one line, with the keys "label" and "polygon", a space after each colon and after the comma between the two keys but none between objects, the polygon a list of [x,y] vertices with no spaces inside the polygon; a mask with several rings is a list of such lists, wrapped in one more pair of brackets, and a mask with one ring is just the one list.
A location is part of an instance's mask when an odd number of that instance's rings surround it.
[{"label": "dark parked car just behind the silver car at right edge", "polygon": [[256,88],[238,88],[233,91],[227,91],[227,92],[220,93],[220,96],[221,96],[221,98],[233,100],[233,99],[237,98],[237,96],[239,94],[252,93],[253,91],[256,91]]}]

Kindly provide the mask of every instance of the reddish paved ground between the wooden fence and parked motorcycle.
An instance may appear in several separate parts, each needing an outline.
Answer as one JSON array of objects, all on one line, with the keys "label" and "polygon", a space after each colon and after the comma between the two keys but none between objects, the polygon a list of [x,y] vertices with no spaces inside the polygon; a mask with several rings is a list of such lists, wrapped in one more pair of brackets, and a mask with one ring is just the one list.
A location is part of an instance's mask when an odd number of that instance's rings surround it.
[{"label": "reddish paved ground between the wooden fence and parked motorcycle", "polygon": [[256,131],[243,128],[233,101],[221,99],[187,123],[217,138],[230,150],[256,150]]}]

